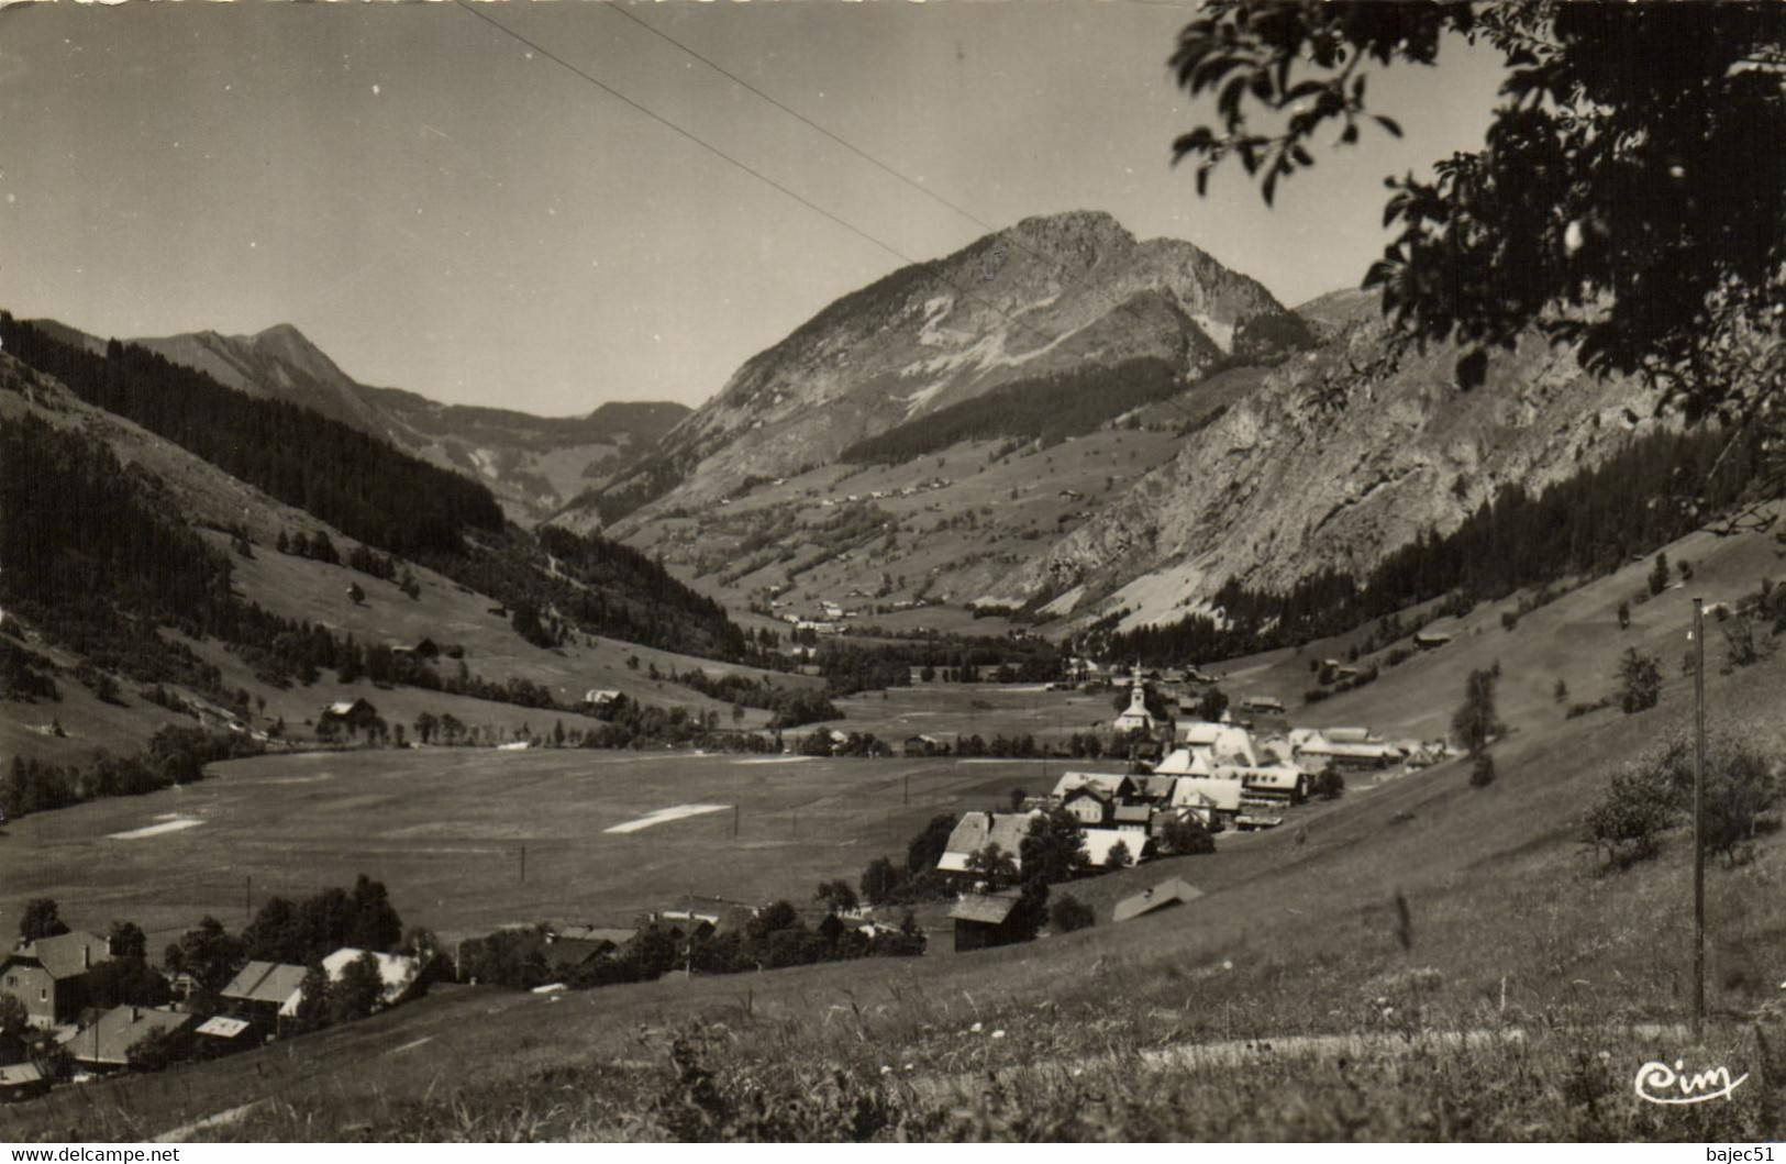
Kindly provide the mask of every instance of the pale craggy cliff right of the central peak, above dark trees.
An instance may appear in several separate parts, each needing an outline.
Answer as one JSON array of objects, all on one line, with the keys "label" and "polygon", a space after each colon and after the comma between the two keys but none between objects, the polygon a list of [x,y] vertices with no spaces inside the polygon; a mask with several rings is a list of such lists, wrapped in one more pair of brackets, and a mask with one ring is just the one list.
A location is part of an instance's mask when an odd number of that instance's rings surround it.
[{"label": "pale craggy cliff right of the central peak, above dark trees", "polygon": [[1002,596],[1082,587],[1075,616],[1129,607],[1132,627],[1206,609],[1231,577],[1282,589],[1329,566],[1363,573],[1506,486],[1543,487],[1654,423],[1641,420],[1654,402],[1636,386],[1593,380],[1536,337],[1495,355],[1488,384],[1461,393],[1456,350],[1390,353],[1373,296],[1323,296],[1307,314],[1320,348],[1188,436]]}]

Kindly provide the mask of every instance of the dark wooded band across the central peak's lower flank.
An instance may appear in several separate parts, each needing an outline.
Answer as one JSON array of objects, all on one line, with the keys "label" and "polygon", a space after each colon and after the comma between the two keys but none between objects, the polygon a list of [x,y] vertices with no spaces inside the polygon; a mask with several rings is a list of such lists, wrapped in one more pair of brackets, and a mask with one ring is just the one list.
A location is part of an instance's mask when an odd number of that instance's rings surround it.
[{"label": "dark wooded band across the central peak's lower flank", "polygon": [[1059,441],[1091,432],[1131,409],[1168,400],[1184,389],[1179,368],[1164,359],[1084,364],[1000,384],[973,400],[857,441],[838,453],[838,459],[847,464],[904,464],[963,441]]}]

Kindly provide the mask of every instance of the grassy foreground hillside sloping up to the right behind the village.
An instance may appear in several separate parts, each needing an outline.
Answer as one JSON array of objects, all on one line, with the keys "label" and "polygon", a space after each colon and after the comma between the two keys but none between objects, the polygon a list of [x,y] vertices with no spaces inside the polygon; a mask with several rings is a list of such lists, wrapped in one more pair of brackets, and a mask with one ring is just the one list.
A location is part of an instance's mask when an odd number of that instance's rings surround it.
[{"label": "grassy foreground hillside sloping up to the right behind the village", "polygon": [[[1668,553],[1695,562],[1709,598],[1750,593],[1781,573],[1757,537],[1693,536]],[[938,1139],[1007,1139],[1022,1128],[1052,1137],[1765,1137],[1786,1102],[1781,1064],[1734,1016],[1761,1021],[1772,1046],[1786,1034],[1775,957],[1786,898],[1772,893],[1786,875],[1786,839],[1765,836],[1750,862],[1709,869],[1715,1021],[1697,1046],[1675,1027],[1691,923],[1684,834],[1668,834],[1656,861],[1627,873],[1598,871],[1577,841],[1607,773],[1688,727],[1691,684],[1668,666],[1657,709],[1568,719],[1534,682],[1565,668],[1588,693],[1632,641],[1684,644],[1679,591],[1634,609],[1627,632],[1606,623],[1640,570],[1595,580],[1511,632],[1465,627],[1452,646],[1336,696],[1320,718],[1297,718],[1431,734],[1461,696],[1463,673],[1498,659],[1513,730],[1495,746],[1490,787],[1470,787],[1459,761],[1384,784],[1354,780],[1340,802],[1298,812],[1293,827],[1225,836],[1213,857],[1075,884],[1072,893],[1098,909],[1093,930],[966,957],[664,980],[559,1000],[446,991],[250,1059],[16,1109],[18,1137],[77,1121],[91,1139],[141,1139],[250,1103],[259,1105],[193,1134],[698,1135],[673,1123],[689,1094],[672,1062],[675,1039],[714,1073],[716,1119],[741,1119],[730,1105],[754,1087],[768,1110],[816,1135],[854,1127],[822,1098],[832,1071],[843,1071],[877,1112],[870,1132],[884,1116],[904,1119],[907,1135]],[[1241,671],[1261,668],[1266,682],[1272,666],[1295,661],[1236,664],[1231,680],[1245,689]],[[1713,653],[1713,668],[1711,727],[1786,750],[1777,716],[1786,657],[1722,675]],[[1207,896],[1109,925],[1114,900],[1173,873]],[[1432,1034],[1457,1030],[1482,1037],[1459,1046]],[[1727,1064],[1750,1084],[1731,1103],[1690,1110],[1638,1102],[1638,1066],[1675,1057]],[[1123,1080],[1116,1102],[1113,1077]]]}]

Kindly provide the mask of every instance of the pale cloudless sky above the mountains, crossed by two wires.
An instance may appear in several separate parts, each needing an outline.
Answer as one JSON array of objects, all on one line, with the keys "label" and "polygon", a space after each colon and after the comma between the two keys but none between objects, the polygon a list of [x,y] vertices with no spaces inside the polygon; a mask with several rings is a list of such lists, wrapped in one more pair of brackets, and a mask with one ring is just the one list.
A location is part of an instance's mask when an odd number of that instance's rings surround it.
[{"label": "pale cloudless sky above the mountains, crossed by two wires", "polygon": [[479,5],[538,50],[457,4],[9,5],[0,307],[107,337],[293,323],[364,384],[570,416],[697,405],[979,223],[1098,209],[1286,305],[1357,286],[1382,179],[1481,146],[1498,61],[1373,77],[1406,136],[1320,154],[1275,209],[1239,170],[1198,198],[1172,139],[1209,111],[1166,64],[1193,7],[627,5],[968,218],[591,0]]}]

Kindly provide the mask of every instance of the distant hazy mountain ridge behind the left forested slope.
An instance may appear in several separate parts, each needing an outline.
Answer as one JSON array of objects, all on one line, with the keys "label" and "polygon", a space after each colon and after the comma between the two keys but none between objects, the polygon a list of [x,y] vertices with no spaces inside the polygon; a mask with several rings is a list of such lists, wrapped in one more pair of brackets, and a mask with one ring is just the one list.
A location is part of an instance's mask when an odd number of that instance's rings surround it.
[{"label": "distant hazy mountain ridge behind the left forested slope", "polygon": [[[105,350],[105,341],[64,323],[38,320],[36,325],[64,343]],[[205,330],[134,343],[236,391],[314,409],[423,461],[473,477],[497,495],[509,518],[523,523],[607,482],[689,412],[670,402],[613,402],[586,416],[550,418],[439,403],[418,393],[357,382],[291,323],[252,336]]]}]

